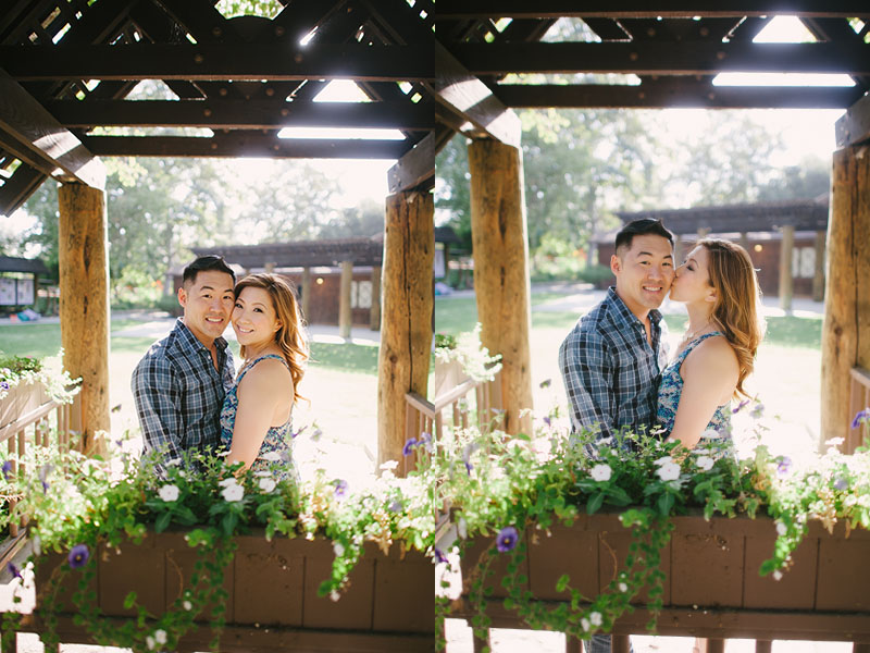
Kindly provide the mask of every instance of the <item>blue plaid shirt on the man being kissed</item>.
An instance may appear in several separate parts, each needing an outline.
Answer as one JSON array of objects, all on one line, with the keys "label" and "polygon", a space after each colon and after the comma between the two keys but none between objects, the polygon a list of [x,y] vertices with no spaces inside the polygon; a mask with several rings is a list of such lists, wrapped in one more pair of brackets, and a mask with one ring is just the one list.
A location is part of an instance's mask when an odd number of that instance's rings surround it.
[{"label": "blue plaid shirt on the man being kissed", "polygon": [[559,368],[574,431],[597,426],[601,440],[655,424],[659,377],[668,358],[662,343],[667,325],[657,310],[649,311],[649,321],[651,347],[643,322],[611,287],[564,338]]}]

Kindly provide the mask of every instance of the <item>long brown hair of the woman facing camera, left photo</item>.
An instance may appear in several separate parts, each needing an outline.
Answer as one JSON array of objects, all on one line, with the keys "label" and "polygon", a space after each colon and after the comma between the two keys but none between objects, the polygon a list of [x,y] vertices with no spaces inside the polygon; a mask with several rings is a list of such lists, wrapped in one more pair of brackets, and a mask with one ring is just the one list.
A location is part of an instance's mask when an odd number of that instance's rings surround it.
[{"label": "long brown hair of the woman facing camera, left photo", "polygon": [[[268,272],[249,274],[239,281],[233,291],[236,299],[245,288],[262,288],[272,298],[272,308],[275,309],[275,315],[281,322],[281,328],[275,332],[275,344],[290,368],[293,399],[296,402],[302,398],[298,387],[304,375],[304,361],[308,360],[308,343],[302,334],[304,322],[299,312],[296,293],[286,279]],[[246,358],[244,346],[241,347],[241,357]]]}]

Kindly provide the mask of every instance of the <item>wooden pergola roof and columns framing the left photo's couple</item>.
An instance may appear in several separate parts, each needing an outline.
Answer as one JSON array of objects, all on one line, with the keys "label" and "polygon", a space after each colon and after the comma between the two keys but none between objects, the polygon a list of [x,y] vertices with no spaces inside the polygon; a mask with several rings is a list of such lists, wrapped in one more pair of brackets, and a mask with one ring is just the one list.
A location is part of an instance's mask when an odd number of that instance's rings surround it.
[{"label": "wooden pergola roof and columns framing the left photo's couple", "polygon": [[[99,157],[381,158],[398,161],[385,208],[378,448],[382,460],[400,455],[405,393],[425,393],[432,340],[433,2],[279,2],[271,19],[226,19],[215,0],[3,4],[0,213],[60,182],[64,366],[84,379],[74,428],[88,439],[109,429]],[[176,98],[128,99],[142,79]],[[352,79],[371,101],[314,102],[333,79]],[[403,139],[281,138],[284,127],[389,128]]]}]

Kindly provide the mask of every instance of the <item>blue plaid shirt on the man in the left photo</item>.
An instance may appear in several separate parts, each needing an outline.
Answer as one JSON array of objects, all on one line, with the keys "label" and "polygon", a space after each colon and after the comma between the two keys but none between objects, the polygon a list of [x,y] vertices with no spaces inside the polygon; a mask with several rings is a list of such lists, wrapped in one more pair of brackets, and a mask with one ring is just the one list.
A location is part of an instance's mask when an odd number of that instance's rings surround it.
[{"label": "blue plaid shirt on the man in the left photo", "polygon": [[235,367],[226,341],[219,337],[214,344],[220,372],[209,349],[179,318],[136,366],[130,386],[145,452],[158,451],[169,461],[188,449],[211,453],[220,444],[221,407]]}]

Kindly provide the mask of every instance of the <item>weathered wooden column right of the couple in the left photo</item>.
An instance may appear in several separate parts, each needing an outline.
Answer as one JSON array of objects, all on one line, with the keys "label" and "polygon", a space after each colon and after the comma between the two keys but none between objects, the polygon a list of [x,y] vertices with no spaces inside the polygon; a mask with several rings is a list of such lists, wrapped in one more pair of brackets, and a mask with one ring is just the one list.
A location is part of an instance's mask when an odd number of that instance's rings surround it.
[{"label": "weathered wooden column right of the couple in the left photo", "polygon": [[434,292],[435,204],[431,193],[386,200],[384,299],[377,360],[377,461],[401,460],[405,393],[426,395]]}]

